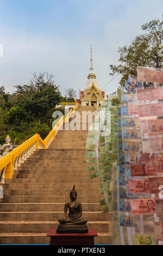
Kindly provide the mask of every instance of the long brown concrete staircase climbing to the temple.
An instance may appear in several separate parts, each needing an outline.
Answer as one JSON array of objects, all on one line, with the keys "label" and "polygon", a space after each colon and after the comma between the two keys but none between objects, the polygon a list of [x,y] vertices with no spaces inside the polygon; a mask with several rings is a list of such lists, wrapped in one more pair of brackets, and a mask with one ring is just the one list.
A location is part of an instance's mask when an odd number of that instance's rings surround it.
[{"label": "long brown concrete staircase climbing to the temple", "polygon": [[[82,106],[77,110],[95,111]],[[5,180],[0,199],[1,244],[49,243],[47,232],[58,227],[73,184],[88,227],[98,232],[95,243],[111,242],[111,217],[102,214],[99,205],[99,179],[90,180],[87,172],[86,138],[87,131],[59,131],[48,149],[37,149],[12,179]]]}]

